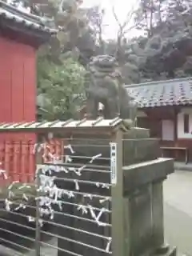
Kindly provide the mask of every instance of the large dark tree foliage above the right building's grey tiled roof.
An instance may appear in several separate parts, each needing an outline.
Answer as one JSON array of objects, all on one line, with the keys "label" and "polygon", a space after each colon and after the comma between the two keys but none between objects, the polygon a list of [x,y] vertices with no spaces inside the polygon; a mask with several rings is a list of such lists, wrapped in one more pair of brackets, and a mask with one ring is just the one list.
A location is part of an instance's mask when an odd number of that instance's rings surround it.
[{"label": "large dark tree foliage above the right building's grey tiled roof", "polygon": [[139,38],[134,54],[139,56],[143,78],[157,80],[192,74],[191,14],[191,0],[140,0],[138,28],[146,35]]}]

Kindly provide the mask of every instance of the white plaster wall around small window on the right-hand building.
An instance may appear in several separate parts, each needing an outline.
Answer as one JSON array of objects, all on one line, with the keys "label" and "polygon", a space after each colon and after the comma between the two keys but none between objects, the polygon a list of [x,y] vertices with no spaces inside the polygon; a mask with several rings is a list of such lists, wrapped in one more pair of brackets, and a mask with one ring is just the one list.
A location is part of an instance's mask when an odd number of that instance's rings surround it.
[{"label": "white plaster wall around small window on the right-hand building", "polygon": [[[184,114],[190,114],[190,133],[184,133]],[[178,114],[178,138],[192,138],[192,109],[182,109]]]}]

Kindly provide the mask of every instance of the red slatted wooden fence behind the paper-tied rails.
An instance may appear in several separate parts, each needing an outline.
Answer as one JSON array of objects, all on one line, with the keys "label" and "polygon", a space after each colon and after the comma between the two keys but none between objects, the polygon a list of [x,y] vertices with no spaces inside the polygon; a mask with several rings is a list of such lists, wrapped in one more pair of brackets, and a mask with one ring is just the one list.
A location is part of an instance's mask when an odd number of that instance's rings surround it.
[{"label": "red slatted wooden fence behind the paper-tied rails", "polygon": [[[6,182],[34,182],[36,170],[36,158],[34,154],[34,140],[2,139],[0,140],[0,169],[6,170],[8,179]],[[50,154],[62,154],[62,140],[49,139],[45,143],[44,162],[50,162]],[[0,177],[0,184],[5,180]]]}]

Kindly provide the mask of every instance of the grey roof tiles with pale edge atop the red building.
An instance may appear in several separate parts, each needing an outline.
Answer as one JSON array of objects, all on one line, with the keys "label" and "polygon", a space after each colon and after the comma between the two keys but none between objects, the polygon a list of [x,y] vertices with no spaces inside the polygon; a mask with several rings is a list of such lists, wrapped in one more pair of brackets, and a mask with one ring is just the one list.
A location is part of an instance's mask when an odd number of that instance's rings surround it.
[{"label": "grey roof tiles with pale edge atop the red building", "polygon": [[6,4],[6,2],[2,2],[2,0],[0,0],[0,18],[18,23],[32,30],[39,30],[48,33],[55,33],[56,31],[45,26],[44,22],[42,22],[42,18],[34,14],[26,14],[14,6],[10,6]]}]

